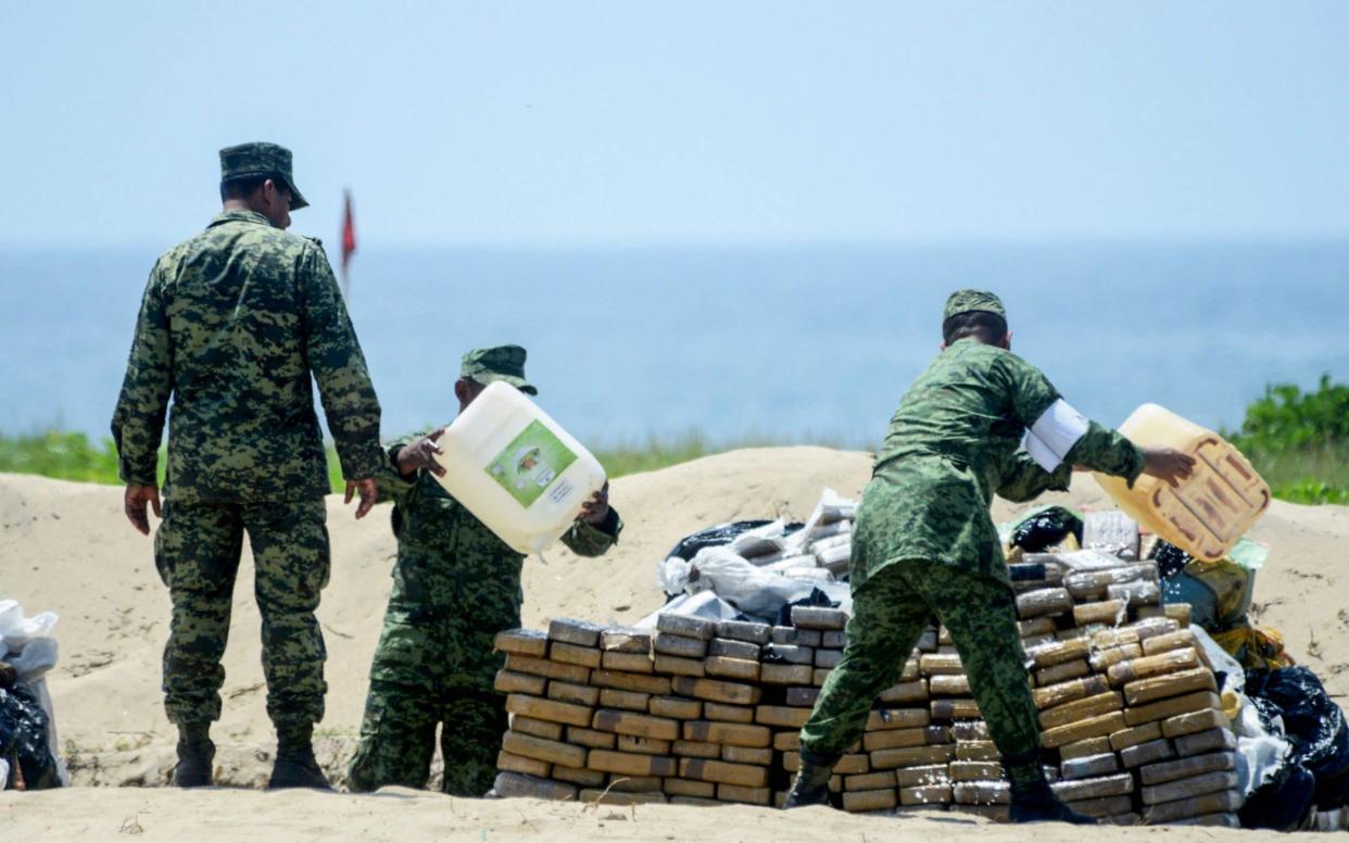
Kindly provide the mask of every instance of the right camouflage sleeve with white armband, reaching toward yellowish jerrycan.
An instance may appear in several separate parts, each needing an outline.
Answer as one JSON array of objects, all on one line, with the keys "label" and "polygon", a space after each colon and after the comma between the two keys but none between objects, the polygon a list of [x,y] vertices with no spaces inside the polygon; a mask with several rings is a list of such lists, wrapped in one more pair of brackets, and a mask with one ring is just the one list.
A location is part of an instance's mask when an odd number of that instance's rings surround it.
[{"label": "right camouflage sleeve with white armband, reaching toward yellowish jerrycan", "polygon": [[1144,455],[1137,445],[1078,413],[1050,379],[1025,360],[1004,355],[1001,371],[1013,413],[1028,429],[1025,453],[1029,459],[1047,472],[1077,463],[1133,484],[1144,468]]}]

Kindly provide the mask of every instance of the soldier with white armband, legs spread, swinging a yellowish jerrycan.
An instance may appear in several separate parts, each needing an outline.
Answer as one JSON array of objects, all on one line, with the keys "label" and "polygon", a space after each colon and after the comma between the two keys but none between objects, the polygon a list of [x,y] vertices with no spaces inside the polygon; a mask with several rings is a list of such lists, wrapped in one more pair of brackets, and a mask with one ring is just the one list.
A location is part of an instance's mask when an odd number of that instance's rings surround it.
[{"label": "soldier with white armband, legs spread, swinging a yellowish jerrycan", "polygon": [[[1008,351],[1006,313],[992,293],[952,294],[943,335],[940,356],[890,419],[858,508],[847,645],[801,728],[801,770],[788,807],[827,800],[834,765],[862,736],[871,703],[936,616],[951,631],[1002,754],[1012,819],[1090,823],[1044,778],[1016,600],[989,504],[994,494],[1020,502],[1067,490],[1074,464],[1132,484],[1141,472],[1175,482],[1193,460],[1140,449],[1072,410],[1039,370]],[[1023,437],[1027,450],[1018,450]]]}]

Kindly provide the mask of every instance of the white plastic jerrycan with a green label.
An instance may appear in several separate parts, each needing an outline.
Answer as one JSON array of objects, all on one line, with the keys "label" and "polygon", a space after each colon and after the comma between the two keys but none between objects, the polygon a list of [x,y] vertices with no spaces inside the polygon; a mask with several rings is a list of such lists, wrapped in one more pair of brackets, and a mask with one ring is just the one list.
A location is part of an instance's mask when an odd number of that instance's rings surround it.
[{"label": "white plastic jerrycan with a green label", "polygon": [[546,550],[604,486],[604,468],[523,393],[495,380],[436,442],[451,495],[519,553]]}]

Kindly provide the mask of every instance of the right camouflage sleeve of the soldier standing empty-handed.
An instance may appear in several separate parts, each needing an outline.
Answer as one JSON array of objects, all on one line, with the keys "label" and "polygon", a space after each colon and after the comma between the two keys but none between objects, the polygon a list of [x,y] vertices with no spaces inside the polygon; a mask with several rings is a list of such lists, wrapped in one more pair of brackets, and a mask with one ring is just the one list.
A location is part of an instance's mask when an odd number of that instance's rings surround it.
[{"label": "right camouflage sleeve of the soldier standing empty-handed", "polygon": [[379,445],[379,399],[328,258],[309,244],[299,264],[305,356],[318,382],[341,472],[347,480],[376,477],[387,455]]}]

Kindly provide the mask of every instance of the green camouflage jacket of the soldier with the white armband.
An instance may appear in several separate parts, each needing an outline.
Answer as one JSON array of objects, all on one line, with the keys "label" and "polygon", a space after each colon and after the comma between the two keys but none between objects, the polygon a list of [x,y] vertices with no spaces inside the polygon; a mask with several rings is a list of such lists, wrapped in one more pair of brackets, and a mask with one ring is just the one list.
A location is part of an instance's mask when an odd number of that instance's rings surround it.
[{"label": "green camouflage jacket of the soldier with the white armband", "polygon": [[1074,464],[1133,483],[1143,452],[1091,422],[1055,471],[1020,450],[1027,428],[1059,391],[1016,355],[959,340],[900,401],[862,496],[850,583],[892,562],[929,561],[1006,581],[989,504],[1068,488]]}]

